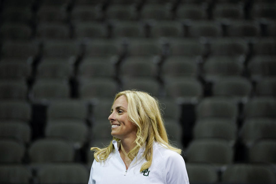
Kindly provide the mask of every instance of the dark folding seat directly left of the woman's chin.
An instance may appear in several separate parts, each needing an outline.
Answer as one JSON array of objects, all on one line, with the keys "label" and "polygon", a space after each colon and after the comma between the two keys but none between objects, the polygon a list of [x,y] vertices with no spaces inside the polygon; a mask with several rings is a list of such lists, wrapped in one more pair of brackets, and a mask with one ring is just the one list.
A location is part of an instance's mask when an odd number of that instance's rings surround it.
[{"label": "dark folding seat directly left of the woman's chin", "polygon": [[97,122],[93,124],[92,129],[92,140],[98,140],[98,139],[109,139],[112,140],[111,135],[111,124],[109,120],[106,118],[106,121]]}]

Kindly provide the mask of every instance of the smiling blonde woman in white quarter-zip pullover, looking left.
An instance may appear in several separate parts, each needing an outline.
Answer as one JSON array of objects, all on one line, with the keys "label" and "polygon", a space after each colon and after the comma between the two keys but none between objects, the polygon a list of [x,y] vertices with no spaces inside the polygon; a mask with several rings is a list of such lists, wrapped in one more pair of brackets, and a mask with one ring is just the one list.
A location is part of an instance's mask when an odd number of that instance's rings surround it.
[{"label": "smiling blonde woman in white quarter-zip pullover, looking left", "polygon": [[189,183],[181,150],[168,143],[158,101],[148,93],[118,93],[108,120],[113,140],[92,147],[95,160],[89,184]]}]

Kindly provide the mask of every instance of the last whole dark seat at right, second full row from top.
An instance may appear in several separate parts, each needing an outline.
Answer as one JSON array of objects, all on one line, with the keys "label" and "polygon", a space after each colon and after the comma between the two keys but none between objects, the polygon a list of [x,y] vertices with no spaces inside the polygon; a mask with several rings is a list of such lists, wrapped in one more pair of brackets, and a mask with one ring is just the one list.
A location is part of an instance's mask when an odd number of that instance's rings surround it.
[{"label": "last whole dark seat at right, second full row from top", "polygon": [[227,24],[226,35],[229,37],[259,37],[261,33],[258,22],[235,20]]}]

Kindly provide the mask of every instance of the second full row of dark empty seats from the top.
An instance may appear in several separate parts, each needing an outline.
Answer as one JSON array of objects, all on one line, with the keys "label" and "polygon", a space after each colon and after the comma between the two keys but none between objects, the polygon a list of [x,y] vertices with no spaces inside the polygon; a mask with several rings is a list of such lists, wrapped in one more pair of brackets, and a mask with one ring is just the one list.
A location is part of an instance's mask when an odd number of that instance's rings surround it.
[{"label": "second full row of dark empty seats from the top", "polygon": [[41,22],[36,27],[3,23],[2,39],[81,39],[119,37],[260,37],[275,36],[275,21],[112,21],[70,24]]}]

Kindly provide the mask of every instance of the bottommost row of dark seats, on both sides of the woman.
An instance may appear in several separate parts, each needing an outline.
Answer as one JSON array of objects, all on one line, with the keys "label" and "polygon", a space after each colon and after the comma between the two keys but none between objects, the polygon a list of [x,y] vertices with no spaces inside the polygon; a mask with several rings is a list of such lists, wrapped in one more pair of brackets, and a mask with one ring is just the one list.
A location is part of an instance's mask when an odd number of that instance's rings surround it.
[{"label": "bottommost row of dark seats, on both sides of the woman", "polygon": [[[229,164],[222,174],[209,164],[186,164],[190,183],[275,183],[273,168],[267,164]],[[2,183],[88,183],[89,172],[81,164],[45,164],[36,176],[28,165],[0,165]],[[58,173],[58,174],[57,174]],[[9,177],[7,177],[9,176]],[[221,179],[220,179],[221,178]]]}]

